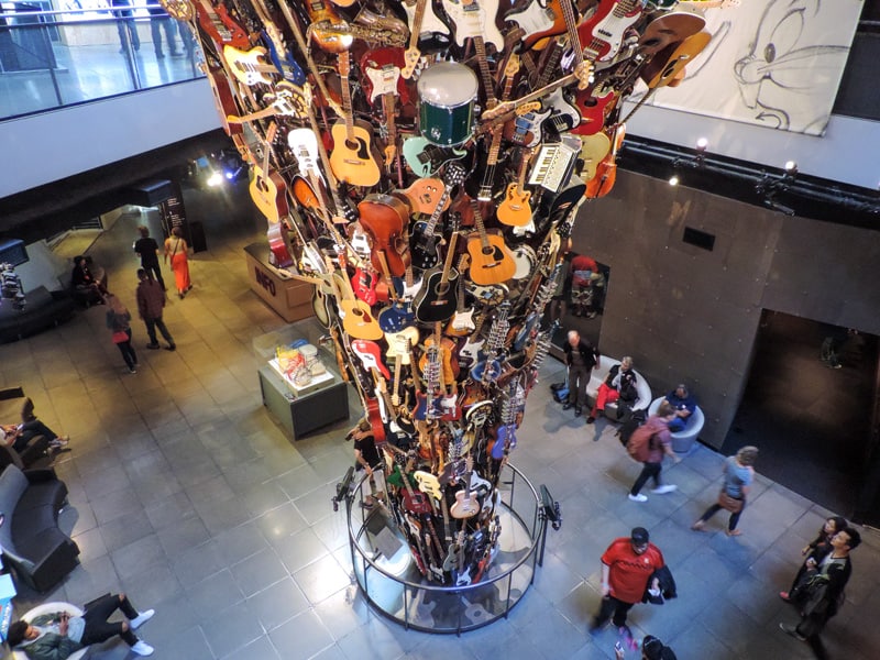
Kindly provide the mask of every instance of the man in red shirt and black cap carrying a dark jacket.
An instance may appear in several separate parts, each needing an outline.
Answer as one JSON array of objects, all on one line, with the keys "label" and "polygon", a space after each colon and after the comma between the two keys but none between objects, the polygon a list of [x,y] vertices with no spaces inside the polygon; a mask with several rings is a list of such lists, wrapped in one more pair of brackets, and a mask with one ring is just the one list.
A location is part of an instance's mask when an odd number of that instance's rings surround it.
[{"label": "man in red shirt and black cap carrying a dark jacket", "polygon": [[[602,606],[590,626],[593,632],[604,626],[608,618],[618,628],[626,626],[626,615],[636,603],[641,602],[648,580],[657,569],[662,569],[663,553],[648,542],[648,530],[635,527],[629,538],[612,541],[602,556]],[[657,579],[651,588],[659,588]]]}]

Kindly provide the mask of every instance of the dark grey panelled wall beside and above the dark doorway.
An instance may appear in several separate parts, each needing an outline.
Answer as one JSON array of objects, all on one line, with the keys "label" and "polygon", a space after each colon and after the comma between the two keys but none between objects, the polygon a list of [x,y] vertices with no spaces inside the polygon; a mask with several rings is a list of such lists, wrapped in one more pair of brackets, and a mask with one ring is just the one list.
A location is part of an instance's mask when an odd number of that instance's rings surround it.
[{"label": "dark grey panelled wall beside and above the dark doorway", "polygon": [[[626,201],[624,201],[626,200]],[[682,241],[684,228],[714,249]],[[620,172],[587,201],[574,251],[610,266],[600,349],[631,354],[654,396],[680,380],[721,447],[736,414],[763,308],[880,333],[880,233],[740,204]]]}]

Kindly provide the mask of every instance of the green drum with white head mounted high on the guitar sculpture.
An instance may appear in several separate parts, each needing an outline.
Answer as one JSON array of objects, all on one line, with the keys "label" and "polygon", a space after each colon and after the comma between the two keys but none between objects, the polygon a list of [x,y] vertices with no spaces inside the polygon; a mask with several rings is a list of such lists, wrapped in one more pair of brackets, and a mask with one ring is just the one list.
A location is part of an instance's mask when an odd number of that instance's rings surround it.
[{"label": "green drum with white head mounted high on the guitar sculpture", "polygon": [[463,64],[439,62],[419,77],[419,128],[428,142],[455,146],[473,134],[476,75]]}]

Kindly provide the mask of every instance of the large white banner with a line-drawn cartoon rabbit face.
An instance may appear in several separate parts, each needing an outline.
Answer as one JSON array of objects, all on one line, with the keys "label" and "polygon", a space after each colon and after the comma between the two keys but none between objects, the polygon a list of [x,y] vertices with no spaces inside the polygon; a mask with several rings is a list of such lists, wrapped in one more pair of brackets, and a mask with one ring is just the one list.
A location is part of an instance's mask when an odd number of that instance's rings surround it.
[{"label": "large white banner with a line-drawn cartoon rabbit face", "polygon": [[733,9],[707,10],[708,46],[686,67],[679,87],[658,89],[649,102],[822,135],[862,4],[743,0]]}]

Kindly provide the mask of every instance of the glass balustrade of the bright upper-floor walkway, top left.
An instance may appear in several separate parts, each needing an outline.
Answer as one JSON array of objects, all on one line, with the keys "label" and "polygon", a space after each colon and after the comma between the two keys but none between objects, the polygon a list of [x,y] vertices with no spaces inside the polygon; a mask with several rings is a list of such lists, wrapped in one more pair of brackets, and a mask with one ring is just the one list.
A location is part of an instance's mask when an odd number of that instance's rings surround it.
[{"label": "glass balustrade of the bright upper-floor walkway, top left", "polygon": [[0,121],[191,80],[201,61],[155,0],[0,0]]}]

